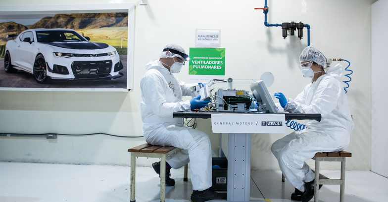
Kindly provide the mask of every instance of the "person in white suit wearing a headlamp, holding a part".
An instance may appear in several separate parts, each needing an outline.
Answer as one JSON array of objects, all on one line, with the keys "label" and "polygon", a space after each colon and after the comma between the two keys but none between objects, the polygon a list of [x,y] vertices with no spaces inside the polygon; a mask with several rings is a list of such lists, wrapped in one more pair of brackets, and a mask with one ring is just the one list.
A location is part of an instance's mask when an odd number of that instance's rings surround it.
[{"label": "person in white suit wearing a headlamp, holding a part", "polygon": [[[168,44],[145,69],[140,85],[142,91],[141,113],[143,134],[146,142],[153,145],[181,148],[166,158],[166,186],[174,186],[170,169],[178,169],[190,162],[193,184],[193,202],[226,199],[226,193],[217,193],[212,186],[211,145],[209,136],[201,131],[184,127],[183,118],[173,118],[173,112],[191,111],[205,107],[209,101],[200,101],[200,96],[183,101],[190,96],[192,86],[176,77],[185,61],[189,60],[185,50],[176,44]],[[201,83],[198,83],[201,84]],[[160,162],[152,164],[160,177]]]}]

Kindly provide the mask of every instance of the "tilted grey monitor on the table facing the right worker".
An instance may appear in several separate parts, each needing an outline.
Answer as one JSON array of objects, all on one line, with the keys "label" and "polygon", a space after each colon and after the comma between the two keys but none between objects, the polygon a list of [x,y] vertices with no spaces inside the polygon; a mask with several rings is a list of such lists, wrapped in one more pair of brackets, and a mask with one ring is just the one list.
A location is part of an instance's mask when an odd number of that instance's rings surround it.
[{"label": "tilted grey monitor on the table facing the right worker", "polygon": [[250,84],[249,87],[252,91],[253,97],[257,101],[257,111],[264,113],[278,112],[278,107],[276,107],[275,102],[272,100],[271,95],[269,94],[267,87],[265,87],[263,80],[256,81]]}]

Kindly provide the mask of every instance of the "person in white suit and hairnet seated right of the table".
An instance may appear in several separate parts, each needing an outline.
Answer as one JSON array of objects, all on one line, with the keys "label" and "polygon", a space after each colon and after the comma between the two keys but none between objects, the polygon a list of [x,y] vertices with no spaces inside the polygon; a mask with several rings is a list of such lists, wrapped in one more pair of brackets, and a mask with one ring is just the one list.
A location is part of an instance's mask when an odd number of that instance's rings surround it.
[{"label": "person in white suit and hairnet seated right of the table", "polygon": [[[345,149],[349,145],[354,123],[345,91],[337,80],[343,72],[342,67],[337,65],[325,72],[326,58],[312,46],[302,51],[299,62],[303,76],[312,78],[312,81],[294,100],[287,100],[282,93],[276,93],[279,99],[277,105],[290,113],[319,113],[322,120],[311,120],[306,129],[275,141],[271,151],[278,159],[284,176],[295,187],[291,199],[308,202],[314,196],[315,175],[305,161],[317,152]],[[280,106],[278,108],[282,109]]]}]

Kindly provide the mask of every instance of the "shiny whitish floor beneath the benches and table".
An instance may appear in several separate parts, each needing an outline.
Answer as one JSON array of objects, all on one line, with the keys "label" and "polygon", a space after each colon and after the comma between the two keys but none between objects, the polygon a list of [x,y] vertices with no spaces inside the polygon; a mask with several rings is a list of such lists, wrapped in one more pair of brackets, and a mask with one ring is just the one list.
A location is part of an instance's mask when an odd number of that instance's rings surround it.
[{"label": "shiny whitish floor beneath the benches and table", "polygon": [[[0,162],[0,202],[129,202],[130,167]],[[322,170],[329,178],[339,171]],[[190,202],[192,185],[183,168],[172,169],[174,187],[166,202]],[[159,202],[159,177],[150,167],[136,168],[136,201]],[[370,171],[346,171],[346,202],[387,202],[388,178]],[[251,200],[293,202],[292,185],[279,170],[251,171]],[[313,200],[311,200],[312,202]],[[320,202],[339,202],[339,185],[324,185]]]}]

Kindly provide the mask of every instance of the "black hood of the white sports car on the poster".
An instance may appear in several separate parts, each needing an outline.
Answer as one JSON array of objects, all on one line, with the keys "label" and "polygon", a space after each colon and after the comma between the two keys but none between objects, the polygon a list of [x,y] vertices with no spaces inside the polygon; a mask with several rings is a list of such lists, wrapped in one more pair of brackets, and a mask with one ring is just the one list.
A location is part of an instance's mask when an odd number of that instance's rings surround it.
[{"label": "black hood of the white sports car on the poster", "polygon": [[108,44],[99,42],[41,42],[41,44],[76,50],[95,50],[109,47]]}]

